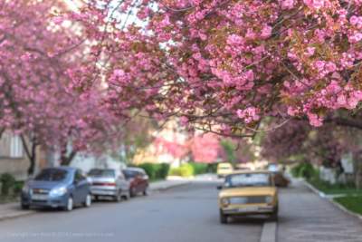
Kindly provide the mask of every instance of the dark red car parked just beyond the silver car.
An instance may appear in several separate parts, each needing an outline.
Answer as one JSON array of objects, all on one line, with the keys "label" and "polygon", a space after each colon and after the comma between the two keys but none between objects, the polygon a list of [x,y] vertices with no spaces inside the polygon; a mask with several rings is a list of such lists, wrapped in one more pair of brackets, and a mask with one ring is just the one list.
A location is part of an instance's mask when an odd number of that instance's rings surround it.
[{"label": "dark red car parked just beyond the silver car", "polygon": [[144,169],[123,169],[123,174],[130,183],[130,197],[134,197],[140,192],[145,196],[148,195],[148,175],[146,174]]}]

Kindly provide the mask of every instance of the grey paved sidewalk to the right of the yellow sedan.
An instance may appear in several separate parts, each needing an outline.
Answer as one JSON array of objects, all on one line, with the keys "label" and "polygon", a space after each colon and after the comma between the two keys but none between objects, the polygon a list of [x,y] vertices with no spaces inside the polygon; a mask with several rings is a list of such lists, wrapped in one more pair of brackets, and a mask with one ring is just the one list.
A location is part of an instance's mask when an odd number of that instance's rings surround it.
[{"label": "grey paved sidewalk to the right of the yellow sedan", "polygon": [[360,242],[362,222],[327,200],[303,182],[293,180],[280,189],[279,242]]}]

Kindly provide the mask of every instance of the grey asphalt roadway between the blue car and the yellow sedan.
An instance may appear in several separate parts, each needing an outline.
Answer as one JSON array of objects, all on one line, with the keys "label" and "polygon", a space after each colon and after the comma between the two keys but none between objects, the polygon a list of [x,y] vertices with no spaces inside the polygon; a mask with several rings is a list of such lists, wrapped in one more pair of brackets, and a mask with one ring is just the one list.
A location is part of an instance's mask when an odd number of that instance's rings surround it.
[{"label": "grey asphalt roadway between the blue car and the yellow sedan", "polygon": [[221,225],[216,183],[195,182],[120,203],[71,212],[45,210],[0,222],[1,242],[259,242],[263,219]]}]

